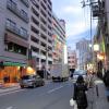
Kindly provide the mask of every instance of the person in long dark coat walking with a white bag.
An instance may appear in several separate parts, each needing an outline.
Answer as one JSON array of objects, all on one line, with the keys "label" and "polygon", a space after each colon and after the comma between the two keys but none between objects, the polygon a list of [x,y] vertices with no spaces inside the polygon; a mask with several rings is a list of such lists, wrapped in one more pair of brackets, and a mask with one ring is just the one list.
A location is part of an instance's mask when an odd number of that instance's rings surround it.
[{"label": "person in long dark coat walking with a white bag", "polygon": [[74,84],[74,94],[73,100],[76,101],[77,109],[87,108],[87,97],[86,97],[87,85],[82,75],[77,77],[76,83]]}]

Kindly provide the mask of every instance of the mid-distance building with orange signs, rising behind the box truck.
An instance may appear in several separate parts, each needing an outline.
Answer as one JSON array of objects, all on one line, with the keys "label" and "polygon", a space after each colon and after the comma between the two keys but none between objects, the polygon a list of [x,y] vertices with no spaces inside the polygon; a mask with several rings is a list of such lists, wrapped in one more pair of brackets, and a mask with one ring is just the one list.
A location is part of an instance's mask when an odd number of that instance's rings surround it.
[{"label": "mid-distance building with orange signs, rising behind the box truck", "polygon": [[[55,14],[52,15],[52,38],[53,38],[53,63],[64,63],[66,55],[64,53],[66,40],[65,40],[65,22],[59,20]],[[65,55],[65,57],[64,57]]]}]

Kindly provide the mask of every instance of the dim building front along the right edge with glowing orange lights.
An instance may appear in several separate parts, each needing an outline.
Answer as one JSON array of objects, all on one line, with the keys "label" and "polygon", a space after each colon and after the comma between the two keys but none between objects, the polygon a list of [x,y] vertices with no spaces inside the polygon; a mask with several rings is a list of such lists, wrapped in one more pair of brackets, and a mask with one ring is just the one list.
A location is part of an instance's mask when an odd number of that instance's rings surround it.
[{"label": "dim building front along the right edge with glowing orange lights", "polygon": [[104,73],[109,70],[109,1],[98,0],[96,3],[92,2],[93,17],[98,19],[96,35],[94,37],[94,45],[98,45],[98,51],[95,53],[95,69],[97,72]]}]

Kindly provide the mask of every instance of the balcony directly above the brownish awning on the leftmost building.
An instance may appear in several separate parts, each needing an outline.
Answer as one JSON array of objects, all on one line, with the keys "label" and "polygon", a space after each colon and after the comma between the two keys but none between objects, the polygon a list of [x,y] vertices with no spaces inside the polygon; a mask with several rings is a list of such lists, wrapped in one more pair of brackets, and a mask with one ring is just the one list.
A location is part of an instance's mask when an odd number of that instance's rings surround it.
[{"label": "balcony directly above the brownish awning on the leftmost building", "polygon": [[21,38],[24,38],[24,39],[28,39],[28,34],[24,34],[24,33],[22,33],[21,31],[20,31],[20,28],[17,28],[16,26],[14,27],[14,26],[12,26],[12,25],[5,25],[5,29],[7,31],[9,31],[9,32],[11,32],[11,33],[13,33],[13,34],[15,34],[15,35],[17,35],[17,36],[20,36]]}]

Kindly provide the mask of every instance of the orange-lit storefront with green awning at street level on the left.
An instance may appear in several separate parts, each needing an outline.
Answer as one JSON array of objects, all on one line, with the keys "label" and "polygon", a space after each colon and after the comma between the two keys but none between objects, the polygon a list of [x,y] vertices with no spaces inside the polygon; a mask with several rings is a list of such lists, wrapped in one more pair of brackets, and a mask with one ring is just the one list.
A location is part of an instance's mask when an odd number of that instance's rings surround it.
[{"label": "orange-lit storefront with green awning at street level on the left", "polygon": [[17,62],[3,62],[0,68],[0,81],[3,83],[16,83],[26,74],[26,64]]}]

